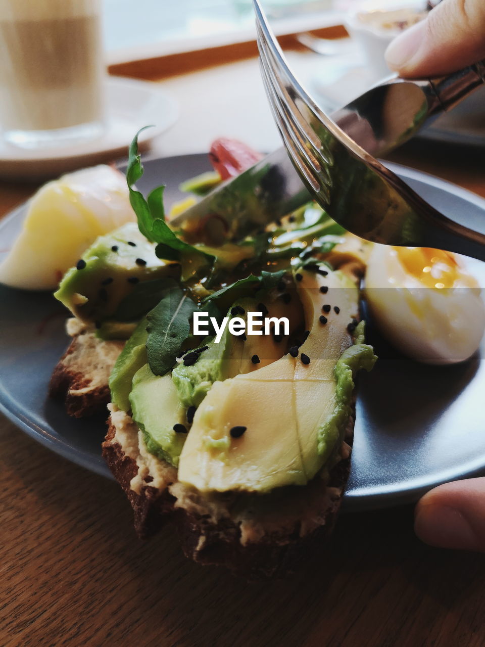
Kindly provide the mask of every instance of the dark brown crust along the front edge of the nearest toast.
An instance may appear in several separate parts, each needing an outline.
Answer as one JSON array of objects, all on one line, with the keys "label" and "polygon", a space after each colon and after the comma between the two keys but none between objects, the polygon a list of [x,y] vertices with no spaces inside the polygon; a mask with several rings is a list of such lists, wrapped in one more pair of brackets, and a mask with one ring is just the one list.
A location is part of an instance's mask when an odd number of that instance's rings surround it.
[{"label": "dark brown crust along the front edge of the nearest toast", "polygon": [[[136,443],[129,443],[131,452],[124,450],[124,441],[120,443],[112,418],[109,419],[109,430],[103,443],[103,457],[133,507],[135,529],[140,538],[149,538],[165,523],[172,522],[177,527],[184,553],[199,564],[224,565],[248,580],[283,577],[294,571],[313,547],[321,549],[332,532],[349,478],[353,411],[352,406],[341,447],[342,457],[330,470],[328,479],[317,476],[304,487],[294,486],[288,490],[294,499],[292,505],[301,512],[297,512],[293,518],[290,515],[290,521],[281,527],[269,524],[261,536],[250,536],[249,540],[244,540],[244,522],[241,523],[240,518],[221,516],[215,519],[210,510],[191,506],[190,499],[187,505],[186,499],[178,496],[184,486],[177,483],[175,468],[171,468],[172,477],[164,481],[161,487],[160,483],[154,487],[153,476],[146,469],[140,482],[139,472],[143,470],[140,457],[135,455],[136,450],[133,453]],[[133,429],[129,433],[136,433],[135,423],[131,421],[131,424]],[[139,437],[142,439],[141,434]],[[133,437],[131,441],[134,441]],[[134,485],[135,481],[138,481],[137,485]],[[301,508],[298,507],[300,499]],[[308,505],[308,499],[315,500],[313,507],[312,504]],[[283,517],[287,509],[281,501],[277,505],[280,505]],[[263,521],[264,525],[267,525],[266,521]]]}]

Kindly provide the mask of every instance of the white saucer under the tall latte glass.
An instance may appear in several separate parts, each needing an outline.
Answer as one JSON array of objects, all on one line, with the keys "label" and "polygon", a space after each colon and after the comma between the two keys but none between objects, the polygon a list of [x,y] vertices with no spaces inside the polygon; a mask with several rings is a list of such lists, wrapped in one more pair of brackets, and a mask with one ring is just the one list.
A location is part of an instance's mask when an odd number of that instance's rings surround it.
[{"label": "white saucer under the tall latte glass", "polygon": [[109,162],[127,154],[136,131],[154,125],[140,135],[140,149],[173,126],[178,104],[158,83],[121,76],[106,79],[107,119],[103,135],[62,148],[39,150],[12,146],[0,138],[0,178],[41,180],[76,168]]}]

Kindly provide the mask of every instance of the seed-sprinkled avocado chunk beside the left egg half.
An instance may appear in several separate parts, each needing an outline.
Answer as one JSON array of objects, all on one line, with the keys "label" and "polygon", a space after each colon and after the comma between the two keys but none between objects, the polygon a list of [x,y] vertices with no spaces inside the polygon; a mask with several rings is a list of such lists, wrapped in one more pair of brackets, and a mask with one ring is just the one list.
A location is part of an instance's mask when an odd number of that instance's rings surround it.
[{"label": "seed-sprinkled avocado chunk beside the left egg half", "polygon": [[128,223],[100,236],[64,275],[56,299],[83,322],[113,316],[138,283],[180,274],[180,265],[156,257],[155,245]]}]

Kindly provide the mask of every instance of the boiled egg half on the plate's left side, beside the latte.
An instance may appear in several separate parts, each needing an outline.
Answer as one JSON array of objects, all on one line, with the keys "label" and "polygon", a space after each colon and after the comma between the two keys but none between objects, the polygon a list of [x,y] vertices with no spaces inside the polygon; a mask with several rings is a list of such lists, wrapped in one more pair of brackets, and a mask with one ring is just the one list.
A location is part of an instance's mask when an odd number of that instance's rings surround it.
[{"label": "boiled egg half on the plate's left side, beside the latte", "polygon": [[111,166],[48,182],[28,204],[21,233],[0,264],[0,283],[54,289],[98,236],[130,221],[136,216],[125,177]]}]

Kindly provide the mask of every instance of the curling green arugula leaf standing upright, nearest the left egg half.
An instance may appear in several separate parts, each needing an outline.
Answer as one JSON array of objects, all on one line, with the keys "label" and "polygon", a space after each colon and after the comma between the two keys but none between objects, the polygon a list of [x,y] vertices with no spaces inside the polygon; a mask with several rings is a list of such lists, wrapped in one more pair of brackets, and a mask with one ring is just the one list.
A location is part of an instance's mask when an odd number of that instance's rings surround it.
[{"label": "curling green arugula leaf standing upright, nearest the left egg half", "polygon": [[[149,126],[146,126],[149,127]],[[147,200],[142,193],[133,188],[135,182],[144,174],[141,155],[138,153],[138,136],[145,128],[136,133],[131,142],[128,155],[126,181],[130,203],[138,219],[140,232],[152,243],[158,243],[155,253],[158,258],[180,260],[182,279],[197,273],[202,266],[211,265],[214,257],[182,241],[165,222],[163,205],[164,186],[153,190]]]}]

